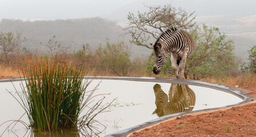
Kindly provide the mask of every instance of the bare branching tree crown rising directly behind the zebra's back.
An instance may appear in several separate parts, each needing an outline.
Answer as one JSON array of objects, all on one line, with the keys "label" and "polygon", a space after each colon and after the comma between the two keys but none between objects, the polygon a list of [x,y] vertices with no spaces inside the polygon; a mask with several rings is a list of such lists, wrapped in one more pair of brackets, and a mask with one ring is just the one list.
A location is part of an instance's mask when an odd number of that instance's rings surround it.
[{"label": "bare branching tree crown rising directly behind the zebra's back", "polygon": [[150,37],[157,39],[161,33],[171,27],[181,29],[191,29],[194,25],[195,12],[188,14],[185,10],[176,9],[172,5],[165,6],[145,6],[148,11],[137,15],[128,14],[129,26],[127,34],[132,35],[131,43],[152,49],[148,44]]}]

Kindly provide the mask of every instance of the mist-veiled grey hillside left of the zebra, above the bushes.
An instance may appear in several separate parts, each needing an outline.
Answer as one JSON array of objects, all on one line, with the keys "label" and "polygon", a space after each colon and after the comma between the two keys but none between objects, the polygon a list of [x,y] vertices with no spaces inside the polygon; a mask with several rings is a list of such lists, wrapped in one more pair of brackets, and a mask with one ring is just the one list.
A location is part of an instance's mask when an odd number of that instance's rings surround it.
[{"label": "mist-veiled grey hillside left of the zebra, above the bushes", "polygon": [[[122,27],[102,18],[34,22],[2,19],[0,31],[22,33],[22,36],[27,38],[22,46],[31,51],[40,51],[42,49],[40,42],[47,43],[54,35],[56,36],[54,41],[58,41],[61,46],[72,46],[72,50],[81,49],[86,43],[91,49],[96,49],[99,45],[105,45],[106,38],[112,43],[125,41],[130,45],[129,36],[122,35],[124,33]],[[150,52],[144,47],[132,46],[133,57],[141,53],[148,55]]]}]

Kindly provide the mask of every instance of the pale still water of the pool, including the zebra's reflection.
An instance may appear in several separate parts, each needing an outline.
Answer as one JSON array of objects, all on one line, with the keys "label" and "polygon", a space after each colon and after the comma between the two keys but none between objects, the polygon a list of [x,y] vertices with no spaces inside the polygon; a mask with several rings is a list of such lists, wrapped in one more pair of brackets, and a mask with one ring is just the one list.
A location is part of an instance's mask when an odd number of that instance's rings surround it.
[{"label": "pale still water of the pool, including the zebra's reflection", "polygon": [[[179,112],[198,111],[208,108],[225,107],[231,104],[237,104],[243,101],[241,95],[230,94],[229,92],[216,90],[214,88],[194,86],[174,82],[156,82],[151,78],[137,78],[140,80],[131,80],[123,78],[122,80],[94,79],[87,90],[93,90],[99,84],[95,95],[104,94],[105,99],[101,107],[107,106],[112,102],[112,106],[105,112],[96,116],[96,120],[103,124],[95,123],[96,130],[103,131],[99,136],[112,134],[129,127],[136,126],[160,116],[171,115]],[[144,81],[141,81],[143,80]],[[146,81],[146,82],[145,82]],[[153,81],[153,82],[149,82]],[[168,80],[167,80],[168,81]],[[6,82],[0,81],[0,124],[8,120],[18,120],[24,110],[17,100],[9,94],[21,91],[21,81]],[[200,84],[200,82],[198,83]],[[216,86],[218,87],[218,86]],[[99,99],[102,96],[99,96]],[[97,99],[94,98],[94,99]],[[83,112],[82,114],[83,115]],[[24,115],[20,120],[29,124],[27,116]],[[17,123],[14,128],[8,127],[10,122],[0,127],[2,136],[49,136],[27,130],[22,123]],[[94,132],[94,131],[93,131]],[[95,131],[97,132],[97,131]],[[82,136],[77,130],[62,130],[55,132],[52,136]]]}]

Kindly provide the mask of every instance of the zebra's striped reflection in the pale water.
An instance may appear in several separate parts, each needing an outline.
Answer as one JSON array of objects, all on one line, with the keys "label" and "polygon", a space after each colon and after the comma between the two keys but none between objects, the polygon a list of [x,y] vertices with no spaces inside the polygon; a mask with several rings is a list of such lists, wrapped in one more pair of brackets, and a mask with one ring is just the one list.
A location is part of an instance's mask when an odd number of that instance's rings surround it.
[{"label": "zebra's striped reflection in the pale water", "polygon": [[153,114],[158,116],[191,111],[194,108],[191,106],[195,106],[195,93],[187,84],[171,84],[169,95],[164,93],[159,84],[155,84],[153,90],[156,97]]}]

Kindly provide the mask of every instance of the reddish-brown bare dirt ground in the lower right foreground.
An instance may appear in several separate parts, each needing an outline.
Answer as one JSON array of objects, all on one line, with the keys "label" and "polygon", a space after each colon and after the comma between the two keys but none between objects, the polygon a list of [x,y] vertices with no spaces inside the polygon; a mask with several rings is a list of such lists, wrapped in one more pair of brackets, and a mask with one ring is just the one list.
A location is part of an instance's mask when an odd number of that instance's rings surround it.
[{"label": "reddish-brown bare dirt ground in the lower right foreground", "polygon": [[[242,87],[254,91],[256,87]],[[250,96],[248,95],[248,96]],[[256,100],[166,120],[129,136],[256,136]]]}]

